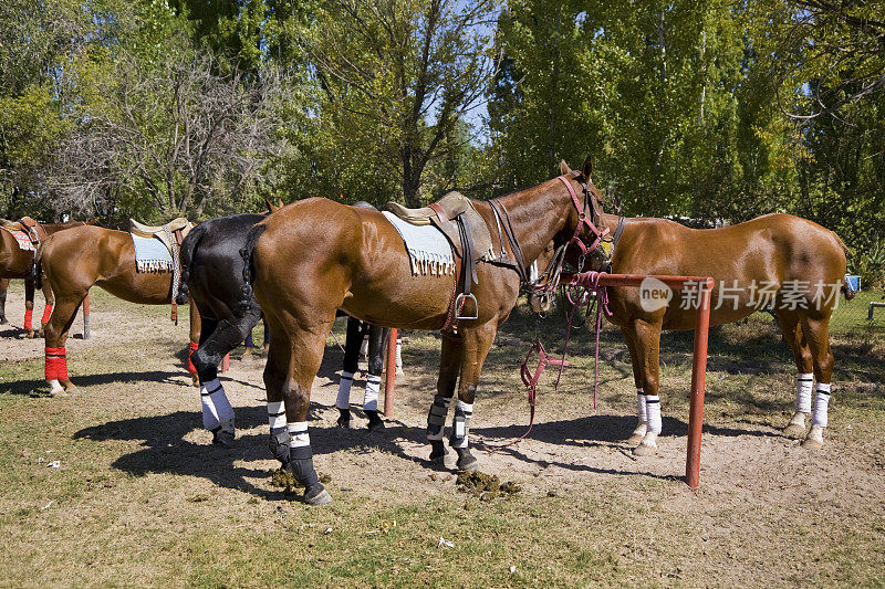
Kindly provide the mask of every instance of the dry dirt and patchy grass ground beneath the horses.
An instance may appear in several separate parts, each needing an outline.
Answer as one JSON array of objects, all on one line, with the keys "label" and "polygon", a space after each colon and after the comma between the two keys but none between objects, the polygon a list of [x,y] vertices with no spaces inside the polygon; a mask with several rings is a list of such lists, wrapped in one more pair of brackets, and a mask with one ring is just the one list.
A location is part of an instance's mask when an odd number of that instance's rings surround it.
[{"label": "dry dirt and patchy grass ground beneath the horses", "polygon": [[[21,288],[10,293],[13,326],[0,327],[2,586],[885,585],[882,339],[834,346],[845,361],[827,444],[810,452],[778,429],[793,399],[787,347],[754,325],[717,334],[701,486],[691,491],[681,480],[684,337],[667,340],[663,358],[656,456],[637,460],[624,442],[635,397],[625,346],[611,329],[595,408],[584,330],[559,390],[544,379],[528,438],[487,445],[528,424],[518,365],[533,323],[516,317],[487,361],[470,432],[480,469],[521,487],[492,501],[457,492],[454,469],[426,461],[436,336],[405,334],[395,412],[373,433],[363,419],[360,429],[334,427],[342,353],[330,339],[310,433],[335,502],[309,508],[271,485],[263,358],[235,353],[221,381],[238,439],[230,450],[212,446],[183,369],[187,315],[176,327],[168,307],[97,290],[92,297],[93,337],[67,343],[81,392],[52,399],[43,343],[17,337]],[[343,339],[343,323],[336,332]],[[362,401],[360,383],[352,401]]]}]

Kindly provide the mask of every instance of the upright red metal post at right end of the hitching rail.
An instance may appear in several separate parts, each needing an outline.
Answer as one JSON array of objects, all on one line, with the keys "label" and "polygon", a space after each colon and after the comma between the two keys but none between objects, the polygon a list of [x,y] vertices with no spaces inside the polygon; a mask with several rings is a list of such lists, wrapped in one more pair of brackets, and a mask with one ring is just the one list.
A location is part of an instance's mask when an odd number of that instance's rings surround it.
[{"label": "upright red metal post at right end of the hitching rail", "polygon": [[700,305],[695,319],[695,354],[691,362],[691,406],[688,410],[688,452],[685,482],[691,488],[700,485],[700,434],[704,429],[704,393],[707,380],[707,340],[710,329],[710,295],[714,280],[701,284]]}]

